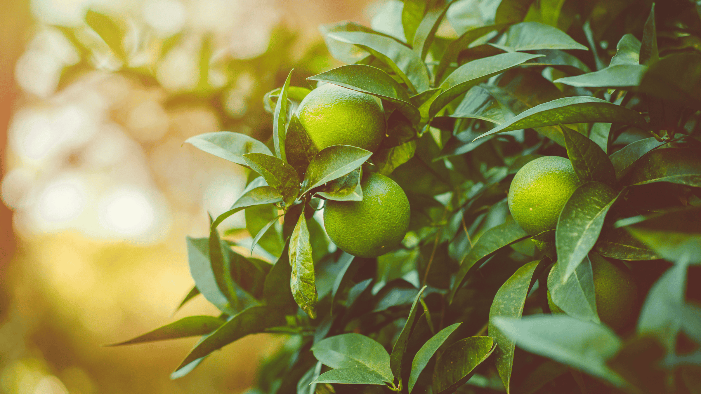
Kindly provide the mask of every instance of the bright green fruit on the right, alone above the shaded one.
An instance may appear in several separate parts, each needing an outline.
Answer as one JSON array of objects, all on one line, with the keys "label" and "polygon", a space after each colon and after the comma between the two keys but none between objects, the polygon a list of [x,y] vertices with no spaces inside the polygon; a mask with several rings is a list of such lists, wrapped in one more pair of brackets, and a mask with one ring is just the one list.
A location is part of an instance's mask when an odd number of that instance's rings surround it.
[{"label": "bright green fruit on the right, alone above the shaded one", "polygon": [[552,230],[579,184],[572,163],[564,157],[543,156],[529,161],[516,172],[509,187],[511,215],[531,236]]}]

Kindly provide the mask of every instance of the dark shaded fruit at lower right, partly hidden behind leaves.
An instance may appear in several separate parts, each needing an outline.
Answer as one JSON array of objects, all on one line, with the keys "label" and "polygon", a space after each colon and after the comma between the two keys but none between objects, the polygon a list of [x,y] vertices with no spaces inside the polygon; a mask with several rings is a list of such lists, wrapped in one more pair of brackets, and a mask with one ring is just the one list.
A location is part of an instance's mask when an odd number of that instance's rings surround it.
[{"label": "dark shaded fruit at lower right, partly hidden behind leaves", "polygon": [[[592,261],[594,299],[599,319],[613,330],[621,330],[634,317],[638,287],[625,266],[613,264],[598,253],[590,254],[589,258]],[[550,270],[549,276],[557,275],[553,274],[554,270],[555,266]],[[552,302],[550,290],[547,292],[547,304],[552,313],[564,313]]]}]

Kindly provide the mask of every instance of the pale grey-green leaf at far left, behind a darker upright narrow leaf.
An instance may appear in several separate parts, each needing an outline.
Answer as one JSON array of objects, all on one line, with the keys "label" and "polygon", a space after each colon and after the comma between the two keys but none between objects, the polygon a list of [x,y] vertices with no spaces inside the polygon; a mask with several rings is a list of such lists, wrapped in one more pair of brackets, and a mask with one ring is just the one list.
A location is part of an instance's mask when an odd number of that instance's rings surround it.
[{"label": "pale grey-green leaf at far left, behind a darker upright narrow leaf", "polygon": [[212,271],[209,246],[209,238],[187,237],[187,259],[190,275],[207,301],[210,301],[219,311],[233,314],[235,311],[231,308],[229,299],[222,292],[215,273]]}]

